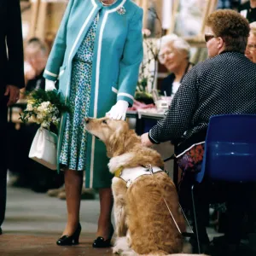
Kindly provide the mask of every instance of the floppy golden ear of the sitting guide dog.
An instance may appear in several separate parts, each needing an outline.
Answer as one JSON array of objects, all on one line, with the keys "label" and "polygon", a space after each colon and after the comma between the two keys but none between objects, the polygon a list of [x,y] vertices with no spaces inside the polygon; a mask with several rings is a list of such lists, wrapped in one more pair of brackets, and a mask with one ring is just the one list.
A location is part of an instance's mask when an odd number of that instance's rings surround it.
[{"label": "floppy golden ear of the sitting guide dog", "polygon": [[122,122],[113,132],[108,140],[108,157],[113,157],[123,154],[125,150],[125,137],[129,131],[129,126],[126,122]]}]

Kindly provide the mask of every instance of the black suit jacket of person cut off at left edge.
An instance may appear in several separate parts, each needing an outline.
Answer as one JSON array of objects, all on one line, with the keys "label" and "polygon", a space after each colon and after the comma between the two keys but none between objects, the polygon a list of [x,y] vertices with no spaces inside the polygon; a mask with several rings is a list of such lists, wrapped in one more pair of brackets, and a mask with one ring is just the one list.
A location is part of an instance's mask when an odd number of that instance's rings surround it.
[{"label": "black suit jacket of person cut off at left edge", "polygon": [[0,97],[7,84],[24,83],[20,0],[0,0]]}]

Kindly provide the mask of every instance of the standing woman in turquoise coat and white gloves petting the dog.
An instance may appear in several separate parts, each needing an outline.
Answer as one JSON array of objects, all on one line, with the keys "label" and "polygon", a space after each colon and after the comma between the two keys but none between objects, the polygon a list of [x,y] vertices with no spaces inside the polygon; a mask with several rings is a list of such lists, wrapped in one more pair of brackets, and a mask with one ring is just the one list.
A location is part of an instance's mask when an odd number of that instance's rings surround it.
[{"label": "standing woman in turquoise coat and white gloves petting the dog", "polygon": [[69,0],[61,21],[44,71],[46,90],[49,81],[58,84],[71,108],[61,117],[57,146],[67,194],[67,226],[58,245],[79,242],[85,171],[85,185],[99,189],[101,203],[93,246],[110,246],[113,197],[106,148],[87,134],[83,120],[100,118],[109,110],[113,119],[125,118],[143,59],[142,18],[143,10],[131,0]]}]

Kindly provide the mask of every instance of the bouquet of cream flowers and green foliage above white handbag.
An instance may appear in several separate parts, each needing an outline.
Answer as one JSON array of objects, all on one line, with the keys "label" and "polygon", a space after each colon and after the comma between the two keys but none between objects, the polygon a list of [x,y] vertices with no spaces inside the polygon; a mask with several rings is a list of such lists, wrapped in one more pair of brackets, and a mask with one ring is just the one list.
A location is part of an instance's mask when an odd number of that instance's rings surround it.
[{"label": "bouquet of cream flowers and green foliage above white handbag", "polygon": [[68,104],[64,102],[61,93],[57,90],[32,90],[27,95],[27,105],[20,119],[26,123],[29,119],[41,125],[45,129],[58,128],[61,113],[68,112]]}]

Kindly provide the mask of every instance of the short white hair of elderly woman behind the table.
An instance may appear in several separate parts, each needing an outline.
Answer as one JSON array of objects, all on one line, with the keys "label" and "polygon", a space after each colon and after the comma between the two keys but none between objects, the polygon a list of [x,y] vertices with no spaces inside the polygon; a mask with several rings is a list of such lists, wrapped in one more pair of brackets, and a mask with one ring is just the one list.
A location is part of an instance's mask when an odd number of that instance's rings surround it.
[{"label": "short white hair of elderly woman behind the table", "polygon": [[157,48],[161,50],[163,47],[170,46],[178,51],[184,51],[189,57],[190,45],[183,38],[179,38],[176,34],[169,34],[157,41]]}]

